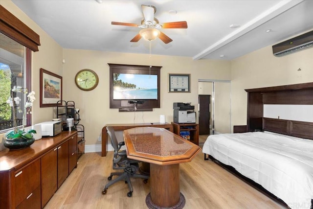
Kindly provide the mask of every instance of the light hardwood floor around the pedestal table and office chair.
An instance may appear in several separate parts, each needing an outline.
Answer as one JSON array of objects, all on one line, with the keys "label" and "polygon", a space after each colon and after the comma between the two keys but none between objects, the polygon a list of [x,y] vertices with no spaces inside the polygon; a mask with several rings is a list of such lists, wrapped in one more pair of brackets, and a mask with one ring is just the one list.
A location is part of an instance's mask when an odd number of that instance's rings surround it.
[{"label": "light hardwood floor around the pedestal table and office chair", "polygon": [[[131,198],[122,181],[102,195],[112,172],[112,154],[84,154],[45,209],[147,209],[145,198],[150,183],[144,184],[141,179],[132,179]],[[216,163],[204,161],[202,152],[192,162],[180,164],[180,191],[186,199],[184,209],[285,208]]]}]

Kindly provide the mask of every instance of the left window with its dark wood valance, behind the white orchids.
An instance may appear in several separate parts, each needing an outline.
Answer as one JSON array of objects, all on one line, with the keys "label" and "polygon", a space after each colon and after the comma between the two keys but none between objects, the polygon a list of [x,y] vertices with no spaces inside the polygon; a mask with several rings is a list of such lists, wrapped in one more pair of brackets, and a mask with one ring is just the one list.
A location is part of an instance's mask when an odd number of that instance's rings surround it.
[{"label": "left window with its dark wood valance, behind the white orchids", "polygon": [[[40,37],[2,5],[0,14],[0,132],[4,132],[13,127],[13,111],[6,104],[11,89],[14,85],[20,85],[31,91],[30,50],[39,50]],[[17,96],[22,99],[20,104],[23,105],[26,98]],[[18,114],[16,116],[20,117]],[[27,117],[26,126],[31,125],[30,119]]]}]

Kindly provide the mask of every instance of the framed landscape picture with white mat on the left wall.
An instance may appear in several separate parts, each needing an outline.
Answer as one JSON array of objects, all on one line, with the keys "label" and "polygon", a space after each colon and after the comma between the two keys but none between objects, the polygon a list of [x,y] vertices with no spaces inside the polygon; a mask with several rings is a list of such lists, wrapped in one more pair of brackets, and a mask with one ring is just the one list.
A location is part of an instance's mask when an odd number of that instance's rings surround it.
[{"label": "framed landscape picture with white mat on the left wall", "polygon": [[55,107],[62,100],[62,76],[40,69],[40,107]]}]

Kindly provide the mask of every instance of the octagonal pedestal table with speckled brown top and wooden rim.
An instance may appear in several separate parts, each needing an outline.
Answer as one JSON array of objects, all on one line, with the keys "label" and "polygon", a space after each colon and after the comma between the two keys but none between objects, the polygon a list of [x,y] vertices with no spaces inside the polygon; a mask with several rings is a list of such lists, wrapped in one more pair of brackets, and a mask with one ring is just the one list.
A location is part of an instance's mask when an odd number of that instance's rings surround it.
[{"label": "octagonal pedestal table with speckled brown top and wooden rim", "polygon": [[138,127],[123,133],[127,157],[150,163],[148,208],[182,208],[179,163],[192,161],[201,148],[164,128]]}]

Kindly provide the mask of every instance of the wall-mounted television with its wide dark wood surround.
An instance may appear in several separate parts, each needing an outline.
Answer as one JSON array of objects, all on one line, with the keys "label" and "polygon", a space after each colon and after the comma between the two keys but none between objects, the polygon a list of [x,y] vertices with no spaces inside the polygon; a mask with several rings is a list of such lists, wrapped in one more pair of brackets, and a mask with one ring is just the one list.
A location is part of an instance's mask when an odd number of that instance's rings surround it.
[{"label": "wall-mounted television with its wide dark wood surround", "polygon": [[110,66],[110,108],[119,111],[152,111],[160,107],[158,66],[108,64]]}]

